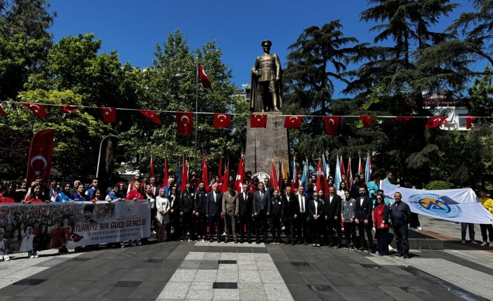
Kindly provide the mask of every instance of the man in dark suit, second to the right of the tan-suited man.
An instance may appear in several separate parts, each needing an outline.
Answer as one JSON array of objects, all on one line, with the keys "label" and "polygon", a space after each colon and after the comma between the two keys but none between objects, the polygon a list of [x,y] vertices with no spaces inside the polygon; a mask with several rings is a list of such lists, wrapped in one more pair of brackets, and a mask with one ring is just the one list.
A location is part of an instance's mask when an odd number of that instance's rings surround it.
[{"label": "man in dark suit, second to the right of the tan-suited man", "polygon": [[[252,212],[255,219],[256,243],[260,244],[260,232],[263,232],[265,244],[267,242],[268,223],[267,219],[270,216],[270,196],[269,192],[265,191],[265,184],[258,183],[258,190],[253,193]],[[261,228],[261,230],[260,230]]]}]

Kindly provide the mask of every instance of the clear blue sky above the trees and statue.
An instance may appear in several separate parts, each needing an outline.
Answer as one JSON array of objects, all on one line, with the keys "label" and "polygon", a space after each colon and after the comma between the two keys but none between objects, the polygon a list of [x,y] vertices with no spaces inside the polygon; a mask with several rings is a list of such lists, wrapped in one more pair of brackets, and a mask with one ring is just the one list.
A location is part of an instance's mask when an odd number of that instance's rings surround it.
[{"label": "clear blue sky above the trees and statue", "polygon": [[[466,0],[451,18],[471,11]],[[158,0],[50,0],[57,11],[52,32],[55,41],[64,36],[94,33],[103,41],[103,51],[117,50],[122,63],[148,67],[152,64],[156,43],[163,43],[171,31],[179,28],[191,50],[207,41],[217,41],[223,61],[233,70],[233,82],[239,87],[249,82],[250,68],[262,53],[260,42],[272,41],[272,53],[279,54],[286,66],[288,46],[302,30],[340,19],[346,36],[371,42],[372,24],[360,22],[367,8],[365,0],[346,1],[158,1]],[[450,24],[443,20],[440,28]],[[335,94],[344,89],[337,85]]]}]

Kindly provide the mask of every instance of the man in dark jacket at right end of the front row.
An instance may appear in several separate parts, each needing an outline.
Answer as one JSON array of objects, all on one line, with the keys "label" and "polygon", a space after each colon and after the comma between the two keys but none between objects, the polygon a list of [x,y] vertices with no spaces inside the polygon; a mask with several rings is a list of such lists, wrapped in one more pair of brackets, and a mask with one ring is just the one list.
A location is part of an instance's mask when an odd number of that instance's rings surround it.
[{"label": "man in dark jacket at right end of the front row", "polygon": [[392,223],[392,230],[395,235],[395,244],[397,244],[397,257],[402,259],[409,259],[409,240],[408,240],[408,228],[409,216],[411,216],[411,209],[409,205],[402,202],[402,194],[400,192],[394,193],[395,202],[390,205],[390,222]]}]

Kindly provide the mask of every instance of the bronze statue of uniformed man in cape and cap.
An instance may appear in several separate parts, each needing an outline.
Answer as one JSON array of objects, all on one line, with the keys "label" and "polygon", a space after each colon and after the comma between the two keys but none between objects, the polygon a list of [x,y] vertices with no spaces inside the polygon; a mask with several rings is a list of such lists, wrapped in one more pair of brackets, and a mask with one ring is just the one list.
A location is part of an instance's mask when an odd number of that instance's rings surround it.
[{"label": "bronze statue of uniformed man in cape and cap", "polygon": [[262,42],[264,54],[251,68],[251,102],[253,112],[279,112],[282,108],[282,69],[277,54],[270,54],[271,41]]}]

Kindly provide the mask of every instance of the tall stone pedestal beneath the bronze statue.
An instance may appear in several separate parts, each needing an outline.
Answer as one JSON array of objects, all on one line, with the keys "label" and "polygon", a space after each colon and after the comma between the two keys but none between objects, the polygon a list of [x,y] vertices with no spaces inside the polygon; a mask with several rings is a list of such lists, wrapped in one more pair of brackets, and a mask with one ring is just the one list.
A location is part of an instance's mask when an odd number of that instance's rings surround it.
[{"label": "tall stone pedestal beneath the bronze statue", "polygon": [[[251,128],[247,122],[247,145],[245,147],[245,171],[265,172],[270,175],[272,159],[279,173],[279,160],[284,154],[289,169],[288,130],[284,129],[284,117],[281,112],[257,113],[267,115],[267,127]],[[279,177],[279,175],[277,175]]]}]

